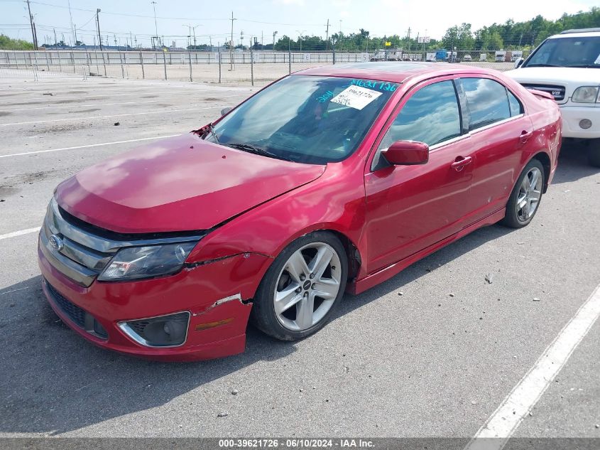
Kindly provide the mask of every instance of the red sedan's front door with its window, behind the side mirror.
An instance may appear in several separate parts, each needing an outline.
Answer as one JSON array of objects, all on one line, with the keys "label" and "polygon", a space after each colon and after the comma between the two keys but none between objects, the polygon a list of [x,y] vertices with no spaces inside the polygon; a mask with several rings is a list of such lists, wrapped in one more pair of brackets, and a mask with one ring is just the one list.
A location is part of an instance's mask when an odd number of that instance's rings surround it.
[{"label": "red sedan's front door with its window, behind the side mirror", "polygon": [[[454,82],[438,80],[418,85],[401,100],[365,175],[369,273],[458,232],[469,212],[470,138],[463,134]],[[429,161],[391,166],[381,150],[398,140],[425,142]]]}]

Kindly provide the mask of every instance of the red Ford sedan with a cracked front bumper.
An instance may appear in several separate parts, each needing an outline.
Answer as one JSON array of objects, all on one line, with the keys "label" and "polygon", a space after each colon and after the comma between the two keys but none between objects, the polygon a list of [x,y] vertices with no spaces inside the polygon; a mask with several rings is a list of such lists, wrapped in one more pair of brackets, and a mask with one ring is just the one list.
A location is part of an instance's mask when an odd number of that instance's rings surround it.
[{"label": "red Ford sedan with a cracked front bumper", "polygon": [[484,225],[528,225],[560,144],[552,97],[495,70],[303,70],[61,183],[39,237],[44,291],[77,333],[129,355],[240,353],[249,318],[304,338],[344,291]]}]

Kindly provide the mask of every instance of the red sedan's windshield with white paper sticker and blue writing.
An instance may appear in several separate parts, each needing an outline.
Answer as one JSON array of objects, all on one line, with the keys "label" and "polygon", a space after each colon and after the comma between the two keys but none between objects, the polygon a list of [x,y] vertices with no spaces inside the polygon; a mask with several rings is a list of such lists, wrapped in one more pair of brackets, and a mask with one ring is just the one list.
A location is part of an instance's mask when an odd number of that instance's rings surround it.
[{"label": "red sedan's windshield with white paper sticker and blue writing", "polygon": [[234,109],[204,139],[307,164],[342,161],[356,151],[396,87],[292,75]]}]

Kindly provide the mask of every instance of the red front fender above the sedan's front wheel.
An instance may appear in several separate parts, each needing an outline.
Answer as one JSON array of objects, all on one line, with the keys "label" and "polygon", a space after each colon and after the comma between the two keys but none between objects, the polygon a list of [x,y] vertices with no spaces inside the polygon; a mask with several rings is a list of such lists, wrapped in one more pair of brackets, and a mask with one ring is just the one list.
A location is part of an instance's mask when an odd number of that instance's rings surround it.
[{"label": "red front fender above the sedan's front wheel", "polygon": [[[317,180],[240,215],[204,237],[188,262],[256,253],[276,257],[296,238],[315,230],[334,230],[361,248],[365,220],[361,167],[329,164]],[[266,270],[265,270],[266,271]]]}]

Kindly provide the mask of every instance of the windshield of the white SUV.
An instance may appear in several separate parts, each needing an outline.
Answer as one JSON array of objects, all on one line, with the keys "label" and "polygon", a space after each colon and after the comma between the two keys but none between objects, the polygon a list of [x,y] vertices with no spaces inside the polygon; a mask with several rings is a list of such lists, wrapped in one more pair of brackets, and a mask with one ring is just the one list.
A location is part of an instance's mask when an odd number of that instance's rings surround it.
[{"label": "windshield of the white SUV", "polygon": [[600,68],[600,36],[548,39],[523,67]]}]

